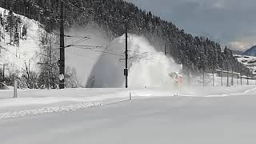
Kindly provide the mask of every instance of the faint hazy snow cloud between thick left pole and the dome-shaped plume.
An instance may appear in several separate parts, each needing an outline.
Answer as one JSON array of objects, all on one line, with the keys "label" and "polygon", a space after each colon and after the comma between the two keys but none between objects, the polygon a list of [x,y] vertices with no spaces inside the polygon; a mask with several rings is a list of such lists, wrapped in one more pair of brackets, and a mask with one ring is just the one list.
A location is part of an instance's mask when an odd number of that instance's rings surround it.
[{"label": "faint hazy snow cloud between thick left pole and the dome-shaped plume", "polygon": [[98,26],[73,26],[65,33],[69,36],[65,45],[77,45],[66,48],[66,66],[77,71],[79,86],[86,86],[90,71],[110,40]]}]

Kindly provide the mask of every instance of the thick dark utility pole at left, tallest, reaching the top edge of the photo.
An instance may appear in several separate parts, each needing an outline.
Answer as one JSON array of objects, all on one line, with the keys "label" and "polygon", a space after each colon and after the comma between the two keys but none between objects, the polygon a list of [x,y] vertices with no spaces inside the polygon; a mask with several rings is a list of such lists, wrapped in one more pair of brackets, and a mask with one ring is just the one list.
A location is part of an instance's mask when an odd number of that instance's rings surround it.
[{"label": "thick dark utility pole at left, tallest, reaching the top edge of the photo", "polygon": [[61,2],[59,89],[65,88],[64,3]]}]

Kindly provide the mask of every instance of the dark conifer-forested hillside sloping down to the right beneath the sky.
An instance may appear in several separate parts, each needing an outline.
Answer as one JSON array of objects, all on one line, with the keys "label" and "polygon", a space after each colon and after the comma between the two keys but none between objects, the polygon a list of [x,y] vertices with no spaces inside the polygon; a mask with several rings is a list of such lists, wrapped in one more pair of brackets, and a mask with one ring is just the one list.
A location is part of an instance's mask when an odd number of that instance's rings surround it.
[{"label": "dark conifer-forested hillside sloping down to the right beneath the sky", "polygon": [[[172,22],[141,10],[133,3],[123,0],[65,0],[66,30],[71,26],[94,24],[102,26],[110,38],[121,36],[125,26],[129,33],[143,35],[158,51],[164,51],[183,64],[184,71],[198,73],[202,70],[212,72],[216,69],[248,74],[228,48],[208,38],[194,37],[179,30]],[[59,0],[2,0],[1,6],[14,10],[42,23],[47,31],[58,30]],[[189,70],[188,70],[189,69]]]}]

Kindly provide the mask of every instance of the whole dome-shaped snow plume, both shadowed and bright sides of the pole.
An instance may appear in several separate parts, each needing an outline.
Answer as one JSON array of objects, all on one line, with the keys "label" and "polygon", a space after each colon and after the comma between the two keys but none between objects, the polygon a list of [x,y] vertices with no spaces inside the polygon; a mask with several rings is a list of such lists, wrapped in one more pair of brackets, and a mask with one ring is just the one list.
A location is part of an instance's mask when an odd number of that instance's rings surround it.
[{"label": "whole dome-shaped snow plume, both shadowed and bright sides of the pole", "polygon": [[[178,72],[172,58],[157,52],[146,38],[129,34],[129,78],[130,87],[170,87],[174,81],[169,74]],[[125,35],[115,38],[102,54],[91,72],[88,87],[123,87]]]}]

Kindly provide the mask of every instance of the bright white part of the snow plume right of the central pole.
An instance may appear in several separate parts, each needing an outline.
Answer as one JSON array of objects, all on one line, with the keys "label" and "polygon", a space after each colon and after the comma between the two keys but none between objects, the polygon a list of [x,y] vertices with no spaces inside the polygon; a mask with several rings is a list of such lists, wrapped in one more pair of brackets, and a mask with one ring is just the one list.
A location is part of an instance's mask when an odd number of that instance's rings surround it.
[{"label": "bright white part of the snow plume right of the central pole", "polygon": [[[122,37],[124,38],[124,37]],[[170,78],[172,71],[178,72],[178,66],[172,58],[167,58],[162,52],[157,52],[146,38],[131,36],[130,55],[131,59],[130,74],[128,84],[131,87],[164,87],[173,84]],[[124,39],[123,39],[124,41]],[[142,54],[136,57],[136,55]]]}]

